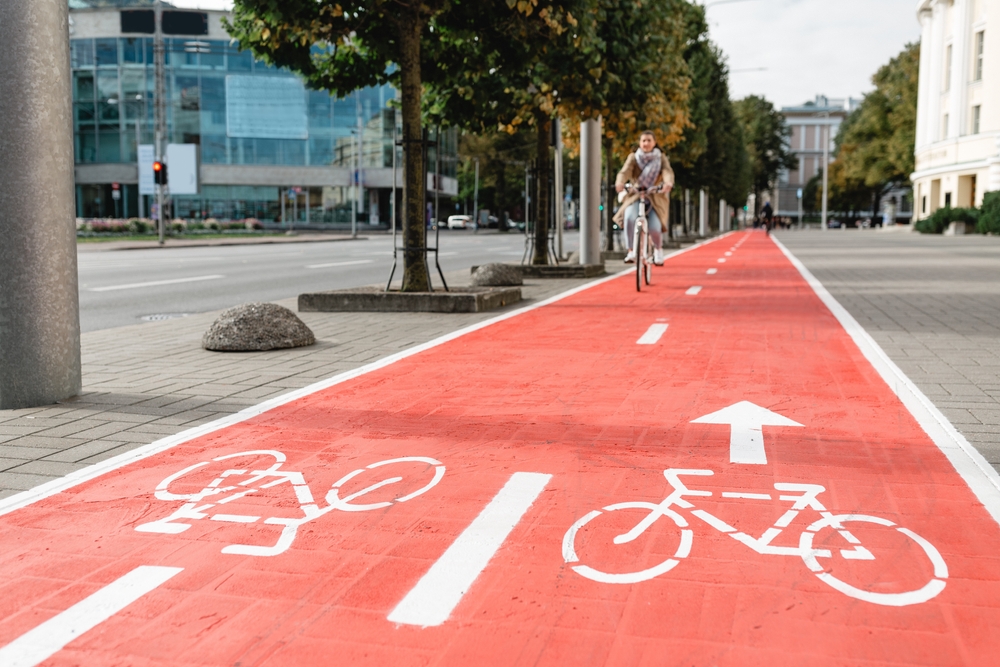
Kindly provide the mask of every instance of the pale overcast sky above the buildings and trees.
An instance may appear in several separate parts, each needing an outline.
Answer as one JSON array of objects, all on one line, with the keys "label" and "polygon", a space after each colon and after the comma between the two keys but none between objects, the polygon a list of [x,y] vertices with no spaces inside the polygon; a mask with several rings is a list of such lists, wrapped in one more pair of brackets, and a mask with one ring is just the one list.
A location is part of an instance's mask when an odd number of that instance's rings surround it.
[{"label": "pale overcast sky above the buildings and trees", "polygon": [[[231,0],[171,0],[229,9]],[[709,31],[729,59],[736,99],[777,106],[817,94],[860,97],[871,76],[920,38],[916,0],[707,0]]]}]

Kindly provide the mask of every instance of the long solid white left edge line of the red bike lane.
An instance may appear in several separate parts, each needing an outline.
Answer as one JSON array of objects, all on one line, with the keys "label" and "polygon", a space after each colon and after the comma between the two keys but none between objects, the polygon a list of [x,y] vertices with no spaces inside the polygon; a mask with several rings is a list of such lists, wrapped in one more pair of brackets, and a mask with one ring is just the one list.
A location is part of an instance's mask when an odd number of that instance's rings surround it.
[{"label": "long solid white left edge line of the red bike lane", "polygon": [[[727,236],[736,234],[738,232],[726,232],[721,236],[716,236],[712,239],[706,239],[705,241],[700,241],[694,245],[690,245],[687,248],[681,248],[680,250],[675,250],[674,252],[666,255],[664,260],[677,257],[678,255],[683,255],[685,253],[696,250],[703,245],[709,243],[714,243],[720,239],[724,239]],[[13,512],[15,510],[21,509],[22,507],[27,507],[32,503],[36,503],[39,500],[49,498],[61,493],[66,489],[71,489],[78,484],[83,484],[84,482],[96,479],[101,475],[107,474],[113,470],[117,470],[124,466],[127,466],[136,461],[141,461],[142,459],[154,456],[160,452],[164,452],[168,449],[181,445],[185,442],[194,440],[195,438],[200,438],[203,435],[208,435],[209,433],[214,433],[215,431],[222,430],[233,424],[239,424],[248,419],[252,419],[258,415],[261,415],[274,408],[281,407],[286,403],[291,403],[297,401],[305,396],[310,396],[318,391],[323,391],[324,389],[329,389],[330,387],[336,386],[348,380],[353,380],[356,377],[366,375],[373,371],[390,366],[397,361],[401,361],[408,357],[412,357],[416,354],[420,354],[426,350],[430,350],[439,345],[444,345],[447,342],[455,340],[456,338],[461,338],[467,334],[474,331],[479,331],[480,329],[485,329],[486,327],[492,326],[504,320],[509,320],[513,317],[523,315],[525,313],[530,313],[538,308],[544,308],[545,306],[551,305],[562,301],[563,299],[568,299],[571,296],[584,292],[598,285],[603,285],[604,283],[611,282],[612,280],[617,280],[622,276],[630,276],[635,274],[634,268],[628,268],[620,271],[616,274],[607,276],[605,278],[599,278],[598,280],[591,281],[579,287],[574,287],[572,289],[566,290],[555,296],[551,296],[548,299],[539,301],[538,303],[533,303],[531,305],[525,306],[524,308],[518,308],[517,310],[512,310],[502,315],[497,315],[496,317],[491,317],[489,319],[483,320],[482,322],[477,322],[475,324],[470,324],[467,327],[461,329],[456,329],[451,333],[447,333],[443,336],[435,338],[433,340],[427,341],[426,343],[421,343],[420,345],[415,345],[409,349],[403,350],[402,352],[397,352],[395,354],[390,354],[387,357],[378,359],[364,366],[359,366],[358,368],[345,371],[339,375],[334,375],[333,377],[327,378],[325,380],[320,380],[311,385],[305,386],[301,389],[296,389],[295,391],[290,391],[287,394],[282,394],[281,396],[275,396],[274,398],[268,399],[257,405],[252,405],[249,408],[244,408],[239,412],[234,412],[231,415],[226,415],[225,417],[220,417],[214,421],[210,421],[201,426],[195,426],[186,431],[181,431],[175,435],[167,436],[166,438],[161,438],[148,445],[142,445],[141,447],[136,447],[135,449],[123,452],[117,456],[113,456],[110,459],[101,461],[100,463],[95,463],[93,465],[87,466],[86,468],[81,468],[75,470],[67,475],[58,477],[56,479],[45,482],[44,484],[39,484],[38,486],[28,489],[27,491],[22,491],[21,493],[15,493],[12,496],[7,496],[6,498],[0,499],[0,516]]]}]

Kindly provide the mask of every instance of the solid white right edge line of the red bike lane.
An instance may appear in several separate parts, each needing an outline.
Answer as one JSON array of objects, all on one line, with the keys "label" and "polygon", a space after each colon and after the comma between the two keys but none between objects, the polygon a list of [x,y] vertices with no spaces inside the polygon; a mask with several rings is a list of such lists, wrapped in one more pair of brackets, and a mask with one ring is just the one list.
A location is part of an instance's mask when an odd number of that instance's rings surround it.
[{"label": "solid white right edge line of the red bike lane", "polygon": [[975,447],[956,429],[947,417],[931,402],[924,392],[908,378],[903,370],[889,358],[875,339],[864,330],[854,316],[840,305],[840,302],[823,284],[786,248],[781,241],[771,237],[775,245],[785,253],[816,295],[826,304],[840,325],[844,327],[861,354],[878,371],[889,388],[899,397],[924,432],[948,458],[955,471],[961,475],[972,492],[979,498],[986,511],[1000,523],[1000,475]]}]

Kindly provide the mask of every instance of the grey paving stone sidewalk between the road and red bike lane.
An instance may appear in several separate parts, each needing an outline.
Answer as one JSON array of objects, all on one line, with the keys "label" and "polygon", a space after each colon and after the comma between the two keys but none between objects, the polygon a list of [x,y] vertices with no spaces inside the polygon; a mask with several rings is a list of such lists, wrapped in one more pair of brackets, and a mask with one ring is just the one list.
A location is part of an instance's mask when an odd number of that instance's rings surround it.
[{"label": "grey paving stone sidewalk between the road and red bike lane", "polygon": [[526,280],[523,301],[485,313],[299,313],[317,342],[292,350],[203,350],[221,311],[86,333],[80,396],[0,411],[0,498],[587,282]]}]

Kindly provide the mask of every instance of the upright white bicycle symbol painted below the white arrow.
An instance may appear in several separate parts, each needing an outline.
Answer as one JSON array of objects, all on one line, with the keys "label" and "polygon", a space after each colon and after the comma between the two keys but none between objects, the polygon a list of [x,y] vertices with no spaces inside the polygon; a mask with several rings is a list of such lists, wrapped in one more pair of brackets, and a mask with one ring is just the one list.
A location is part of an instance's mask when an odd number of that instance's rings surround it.
[{"label": "upright white bicycle symbol painted below the white arrow", "polygon": [[[678,528],[681,530],[680,545],[677,547],[676,552],[672,557],[667,558],[663,562],[655,565],[653,567],[638,571],[638,572],[625,572],[625,573],[608,573],[597,570],[586,564],[573,565],[572,569],[578,574],[592,579],[593,581],[598,581],[607,584],[635,584],[642,581],[647,581],[654,577],[658,577],[666,572],[669,572],[674,567],[676,567],[681,559],[688,556],[691,552],[691,545],[694,540],[694,532],[689,528],[687,519],[681,516],[680,513],[675,511],[674,508],[690,510],[688,514],[698,517],[703,522],[707,523],[712,528],[718,530],[721,533],[725,533],[732,537],[733,539],[745,544],[759,554],[775,555],[775,556],[798,556],[802,558],[805,562],[806,567],[808,567],[813,573],[819,577],[824,583],[832,586],[834,589],[840,591],[841,593],[848,595],[852,598],[858,600],[864,600],[866,602],[871,602],[874,604],[887,605],[893,607],[902,607],[906,605],[919,604],[930,600],[945,587],[945,579],[948,578],[948,566],[945,564],[944,559],[941,554],[934,547],[933,544],[920,537],[913,531],[903,528],[902,526],[897,526],[892,521],[888,519],[883,519],[876,516],[869,516],[866,514],[833,514],[819,502],[817,497],[819,494],[823,493],[826,489],[818,484],[784,484],[777,483],[774,488],[778,491],[786,492],[787,495],[779,495],[778,499],[784,502],[791,502],[792,507],[784,513],[784,515],[779,518],[773,527],[768,528],[763,535],[759,538],[753,538],[746,533],[738,532],[735,528],[722,521],[716,516],[709,514],[708,512],[701,509],[694,509],[694,504],[686,500],[690,497],[707,497],[711,496],[711,491],[695,491],[687,488],[684,482],[680,480],[682,475],[712,475],[714,474],[711,470],[681,470],[681,469],[669,469],[665,470],[663,473],[667,481],[673,487],[673,492],[670,493],[662,502],[660,503],[650,503],[650,502],[625,502],[625,503],[615,503],[613,505],[608,505],[600,510],[594,510],[589,514],[582,517],[579,521],[574,523],[570,529],[566,532],[563,538],[563,559],[567,563],[580,563],[580,555],[577,550],[577,534],[580,532],[584,526],[594,521],[600,516],[606,516],[608,513],[616,512],[619,510],[646,510],[649,514],[643,518],[639,523],[622,533],[613,539],[614,544],[621,545],[639,538],[647,529],[649,529],[658,519],[662,517],[669,517]],[[723,498],[732,499],[743,499],[743,500],[770,500],[770,494],[765,493],[736,493],[736,492],[724,492],[722,494]],[[820,519],[810,524],[808,527],[802,530],[799,536],[799,543],[797,547],[782,547],[772,545],[774,539],[781,534],[782,530],[787,528],[792,521],[798,516],[800,512],[805,509],[812,509],[819,513]],[[931,565],[934,569],[934,577],[927,582],[921,588],[916,590],[897,592],[897,593],[885,593],[877,592],[872,590],[864,590],[857,588],[848,584],[841,579],[838,579],[831,574],[830,568],[825,568],[821,563],[820,559],[830,559],[833,558],[833,550],[831,549],[818,549],[814,548],[813,544],[816,539],[817,533],[820,531],[830,528],[835,530],[840,536],[847,542],[847,545],[852,548],[840,549],[839,554],[845,560],[854,561],[874,561],[876,556],[872,554],[871,551],[862,546],[860,540],[855,537],[846,527],[846,524],[869,524],[874,526],[882,526],[885,528],[891,528],[899,533],[902,533],[907,538],[915,542],[923,553],[930,560]],[[627,525],[627,524],[626,524]],[[859,526],[860,527],[860,526]],[[582,547],[581,547],[582,548]],[[872,547],[877,550],[877,547]],[[888,558],[887,558],[888,560]]]}]

